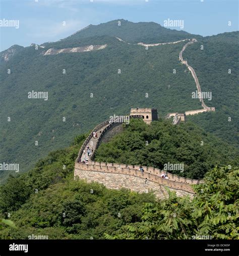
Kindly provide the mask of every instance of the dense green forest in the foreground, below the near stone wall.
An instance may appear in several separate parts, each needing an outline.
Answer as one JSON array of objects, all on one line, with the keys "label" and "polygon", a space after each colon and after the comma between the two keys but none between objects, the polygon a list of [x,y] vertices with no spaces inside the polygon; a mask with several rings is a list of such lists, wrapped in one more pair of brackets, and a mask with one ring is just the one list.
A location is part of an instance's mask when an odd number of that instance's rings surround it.
[{"label": "dense green forest in the foreground, below the near stone wall", "polygon": [[74,180],[74,161],[85,138],[76,137],[72,146],[0,187],[0,239],[238,238],[237,167],[210,170],[203,184],[194,185],[194,199],[168,191],[168,199],[156,200],[152,192]]}]

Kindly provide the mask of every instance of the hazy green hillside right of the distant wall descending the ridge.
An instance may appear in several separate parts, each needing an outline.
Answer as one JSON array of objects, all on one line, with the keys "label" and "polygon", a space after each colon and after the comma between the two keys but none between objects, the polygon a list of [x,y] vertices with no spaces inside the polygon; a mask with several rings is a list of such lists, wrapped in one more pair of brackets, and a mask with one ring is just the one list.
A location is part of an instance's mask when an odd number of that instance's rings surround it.
[{"label": "hazy green hillside right of the distant wall descending the ridge", "polygon": [[[185,58],[194,67],[204,92],[212,92],[212,101],[216,113],[205,113],[189,117],[215,135],[238,147],[239,142],[239,33],[223,33],[198,39],[185,51]],[[201,50],[200,46],[204,49]],[[228,70],[231,73],[228,73]],[[230,117],[230,121],[228,121]]]}]

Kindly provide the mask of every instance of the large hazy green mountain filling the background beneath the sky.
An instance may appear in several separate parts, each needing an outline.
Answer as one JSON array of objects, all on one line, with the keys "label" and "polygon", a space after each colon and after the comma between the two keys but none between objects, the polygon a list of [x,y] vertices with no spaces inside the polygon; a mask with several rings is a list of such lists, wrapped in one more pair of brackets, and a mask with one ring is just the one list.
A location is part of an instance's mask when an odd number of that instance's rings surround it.
[{"label": "large hazy green mountain filling the background beneath the sky", "polygon": [[[198,99],[192,99],[192,74],[178,60],[185,41],[148,50],[137,45],[192,38],[198,42],[184,56],[202,81],[202,90],[212,90],[207,105],[216,112],[189,119],[235,145],[238,32],[202,37],[153,22],[115,20],[90,25],[57,42],[21,48],[2,62],[1,161],[19,163],[20,173],[26,172],[50,150],[65,147],[110,115],[129,114],[132,107],[156,107],[160,117],[202,108]],[[34,92],[47,94],[47,99],[29,98]],[[2,182],[9,173],[14,172],[0,171]]]}]

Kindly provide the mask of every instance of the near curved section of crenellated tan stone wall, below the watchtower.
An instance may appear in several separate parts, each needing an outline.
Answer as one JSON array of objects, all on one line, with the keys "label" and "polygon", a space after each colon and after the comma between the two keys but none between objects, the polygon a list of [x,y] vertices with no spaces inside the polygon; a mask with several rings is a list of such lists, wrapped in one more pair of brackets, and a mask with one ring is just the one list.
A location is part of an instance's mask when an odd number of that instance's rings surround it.
[{"label": "near curved section of crenellated tan stone wall, below the watchtower", "polygon": [[[92,133],[83,143],[75,163],[74,177],[77,179],[85,179],[87,182],[98,182],[104,184],[108,188],[120,189],[128,188],[133,191],[147,192],[153,190],[156,197],[167,197],[166,187],[175,191],[177,195],[194,194],[191,187],[192,184],[198,184],[198,180],[182,178],[173,174],[168,174],[168,180],[161,178],[161,173],[166,173],[158,168],[143,166],[144,172],[140,172],[139,165],[126,165],[105,162],[95,162],[94,153],[91,156],[89,164],[80,163],[79,160],[83,154],[83,150],[93,137],[93,132],[99,132],[97,143],[94,145],[94,152],[100,145],[103,136],[115,125],[121,123],[109,123],[108,120],[100,123],[95,127]],[[102,127],[106,126],[103,130]]]}]

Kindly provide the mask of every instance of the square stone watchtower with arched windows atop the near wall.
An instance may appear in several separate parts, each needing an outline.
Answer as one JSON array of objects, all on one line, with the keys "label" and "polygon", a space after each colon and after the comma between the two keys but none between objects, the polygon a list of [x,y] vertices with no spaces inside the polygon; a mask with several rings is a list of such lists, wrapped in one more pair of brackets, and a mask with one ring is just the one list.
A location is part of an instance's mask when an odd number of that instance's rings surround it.
[{"label": "square stone watchtower with arched windows atop the near wall", "polygon": [[147,124],[158,120],[158,112],[156,108],[132,108],[130,111],[130,116],[141,116]]}]

